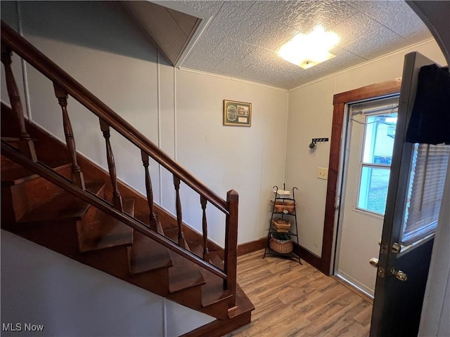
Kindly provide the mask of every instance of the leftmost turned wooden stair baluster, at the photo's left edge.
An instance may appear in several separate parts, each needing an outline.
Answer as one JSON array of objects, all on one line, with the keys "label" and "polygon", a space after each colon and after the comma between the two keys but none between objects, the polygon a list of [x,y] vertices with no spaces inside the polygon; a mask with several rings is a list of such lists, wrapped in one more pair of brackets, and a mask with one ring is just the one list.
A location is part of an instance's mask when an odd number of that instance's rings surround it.
[{"label": "leftmost turned wooden stair baluster, at the photo's left edge", "polygon": [[34,143],[25,128],[25,116],[23,115],[22,101],[20,100],[19,89],[15,83],[13,70],[11,69],[11,63],[13,62],[11,59],[12,54],[11,50],[6,48],[3,44],[1,45],[1,62],[5,68],[6,90],[8,91],[9,102],[11,103],[14,117],[19,126],[19,150],[25,156],[32,159],[32,161],[37,161]]}]

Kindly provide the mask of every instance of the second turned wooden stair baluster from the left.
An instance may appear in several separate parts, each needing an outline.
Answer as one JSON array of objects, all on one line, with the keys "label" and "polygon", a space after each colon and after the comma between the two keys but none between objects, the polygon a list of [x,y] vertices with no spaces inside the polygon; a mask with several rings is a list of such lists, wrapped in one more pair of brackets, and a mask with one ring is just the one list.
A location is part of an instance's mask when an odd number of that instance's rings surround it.
[{"label": "second turned wooden stair baluster from the left", "polygon": [[63,112],[63,128],[65,143],[68,145],[69,157],[72,159],[72,183],[84,190],[84,177],[82,169],[77,163],[77,147],[75,146],[75,138],[73,136],[72,124],[70,123],[68,114],[68,94],[58,84],[53,82],[56,98]]}]

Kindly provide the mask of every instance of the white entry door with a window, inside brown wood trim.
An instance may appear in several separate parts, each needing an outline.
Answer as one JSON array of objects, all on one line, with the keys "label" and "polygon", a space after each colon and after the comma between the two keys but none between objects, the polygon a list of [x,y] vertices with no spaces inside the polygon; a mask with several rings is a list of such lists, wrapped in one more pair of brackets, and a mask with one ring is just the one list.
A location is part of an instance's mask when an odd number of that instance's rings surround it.
[{"label": "white entry door with a window, inside brown wood trim", "polygon": [[349,104],[336,274],[370,296],[383,229],[398,95]]}]

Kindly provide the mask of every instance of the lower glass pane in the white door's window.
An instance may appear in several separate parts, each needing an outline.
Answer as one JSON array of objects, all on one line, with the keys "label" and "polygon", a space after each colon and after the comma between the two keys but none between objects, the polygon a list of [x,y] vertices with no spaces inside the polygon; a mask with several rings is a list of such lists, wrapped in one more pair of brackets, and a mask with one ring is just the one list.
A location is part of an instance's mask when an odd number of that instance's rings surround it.
[{"label": "lower glass pane in the white door's window", "polygon": [[384,214],[390,168],[363,166],[359,184],[358,208]]}]

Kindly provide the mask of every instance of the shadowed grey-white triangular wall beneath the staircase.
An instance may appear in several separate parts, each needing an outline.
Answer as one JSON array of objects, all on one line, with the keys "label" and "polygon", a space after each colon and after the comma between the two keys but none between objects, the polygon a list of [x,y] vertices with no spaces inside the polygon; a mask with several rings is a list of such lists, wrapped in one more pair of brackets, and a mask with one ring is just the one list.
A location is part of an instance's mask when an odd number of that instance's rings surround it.
[{"label": "shadowed grey-white triangular wall beneath the staircase", "polygon": [[1,230],[1,324],[22,329],[1,336],[179,336],[212,320]]}]

